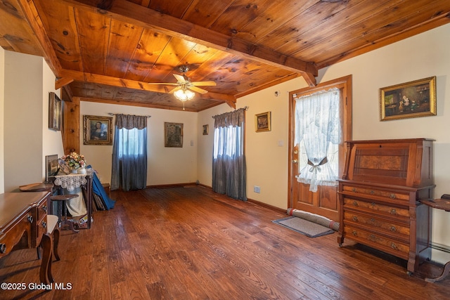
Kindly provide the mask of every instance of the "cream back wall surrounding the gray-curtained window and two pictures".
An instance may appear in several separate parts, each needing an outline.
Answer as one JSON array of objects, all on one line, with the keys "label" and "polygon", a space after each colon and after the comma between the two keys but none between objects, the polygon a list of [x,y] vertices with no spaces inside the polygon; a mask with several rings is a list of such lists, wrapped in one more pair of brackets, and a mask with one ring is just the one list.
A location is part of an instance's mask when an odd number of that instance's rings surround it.
[{"label": "cream back wall surrounding the gray-curtained window and two pictures", "polygon": [[[83,124],[83,115],[111,117],[108,115],[109,112],[126,115],[151,116],[147,120],[147,185],[194,183],[198,180],[197,113],[82,101],[80,104],[80,122]],[[113,124],[114,122],[115,118],[113,118]],[[182,148],[165,148],[165,122],[184,124],[184,141]],[[82,133],[83,130],[81,129],[81,134]],[[81,138],[80,153],[84,155],[88,164],[91,164],[92,167],[98,171],[100,181],[102,183],[110,183],[113,146],[83,145],[83,138]]]}]

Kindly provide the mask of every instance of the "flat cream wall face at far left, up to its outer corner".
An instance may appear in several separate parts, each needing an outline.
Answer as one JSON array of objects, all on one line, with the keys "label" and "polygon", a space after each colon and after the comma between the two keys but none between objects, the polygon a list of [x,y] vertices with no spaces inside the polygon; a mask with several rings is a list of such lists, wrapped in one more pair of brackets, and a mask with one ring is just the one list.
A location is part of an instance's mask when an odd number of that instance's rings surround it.
[{"label": "flat cream wall face at far left, up to its outer corner", "polygon": [[41,78],[42,58],[5,51],[6,192],[42,180]]}]

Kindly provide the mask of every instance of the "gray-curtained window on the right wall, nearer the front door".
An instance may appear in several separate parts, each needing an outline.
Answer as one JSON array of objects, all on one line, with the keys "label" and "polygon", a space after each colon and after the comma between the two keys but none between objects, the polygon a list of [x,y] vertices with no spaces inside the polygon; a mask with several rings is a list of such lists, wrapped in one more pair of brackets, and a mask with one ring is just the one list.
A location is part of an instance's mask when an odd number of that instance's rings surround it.
[{"label": "gray-curtained window on the right wall, nearer the front door", "polygon": [[247,201],[244,129],[244,108],[214,116],[212,190]]}]

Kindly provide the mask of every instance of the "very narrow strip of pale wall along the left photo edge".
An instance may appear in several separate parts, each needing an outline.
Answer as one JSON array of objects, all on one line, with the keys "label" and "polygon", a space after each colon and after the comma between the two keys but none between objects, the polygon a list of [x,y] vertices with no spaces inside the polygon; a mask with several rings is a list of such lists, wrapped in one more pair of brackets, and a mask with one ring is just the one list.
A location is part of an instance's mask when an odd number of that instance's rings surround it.
[{"label": "very narrow strip of pale wall along the left photo edge", "polygon": [[5,192],[4,115],[5,115],[5,51],[0,47],[0,194]]}]

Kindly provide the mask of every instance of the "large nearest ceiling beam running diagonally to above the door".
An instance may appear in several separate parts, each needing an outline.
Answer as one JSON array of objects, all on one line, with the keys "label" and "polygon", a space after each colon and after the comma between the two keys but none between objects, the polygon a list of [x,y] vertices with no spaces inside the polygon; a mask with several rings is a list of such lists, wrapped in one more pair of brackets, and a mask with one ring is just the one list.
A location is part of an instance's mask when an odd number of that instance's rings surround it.
[{"label": "large nearest ceiling beam running diagonally to above the door", "polygon": [[[23,0],[25,1],[25,0]],[[285,70],[301,73],[310,86],[316,85],[318,75],[314,63],[286,56],[267,47],[252,44],[249,41],[214,32],[191,22],[165,15],[150,8],[125,0],[64,0],[77,8],[88,8],[96,13],[109,15],[111,18],[129,22],[142,27],[157,30],[180,39],[187,39],[198,44],[217,48],[221,51],[244,56],[267,65],[282,67]]]}]

